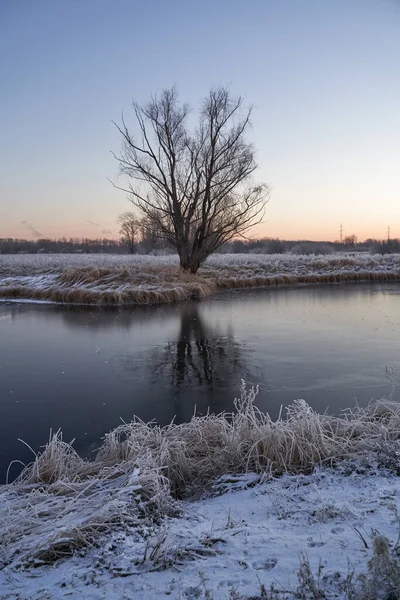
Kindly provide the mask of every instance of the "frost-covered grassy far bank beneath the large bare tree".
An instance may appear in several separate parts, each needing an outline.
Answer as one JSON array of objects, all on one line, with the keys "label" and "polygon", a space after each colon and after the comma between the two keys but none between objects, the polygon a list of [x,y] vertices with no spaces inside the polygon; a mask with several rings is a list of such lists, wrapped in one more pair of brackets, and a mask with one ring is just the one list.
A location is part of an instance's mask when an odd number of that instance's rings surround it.
[{"label": "frost-covered grassy far bank beneath the large bare tree", "polygon": [[175,302],[225,288],[398,279],[398,254],[216,254],[196,276],[180,273],[175,255],[0,255],[0,297],[67,303]]}]

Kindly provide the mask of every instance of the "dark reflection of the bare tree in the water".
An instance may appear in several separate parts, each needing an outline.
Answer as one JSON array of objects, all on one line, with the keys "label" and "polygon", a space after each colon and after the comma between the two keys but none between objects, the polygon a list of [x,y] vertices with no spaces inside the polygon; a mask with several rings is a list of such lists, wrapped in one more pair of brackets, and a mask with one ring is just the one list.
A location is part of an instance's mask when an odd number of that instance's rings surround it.
[{"label": "dark reflection of the bare tree in the water", "polygon": [[[93,312],[90,318],[87,312],[67,313],[64,319],[70,317],[74,327],[79,323],[85,329],[117,327],[129,332],[132,345],[107,356],[107,367],[131,385],[137,414],[147,414],[153,404],[151,418],[165,422],[168,414],[181,422],[189,419],[195,408],[200,413],[230,410],[240,380],[249,384],[259,380],[251,351],[235,340],[226,321],[225,326],[218,324],[220,310],[218,306],[210,311],[208,303],[192,301],[109,311],[109,318],[104,318],[104,311]],[[154,341],[154,331],[159,328],[160,341],[146,349],[149,327]],[[249,359],[253,359],[251,370]],[[138,406],[139,398],[147,408]]]}]

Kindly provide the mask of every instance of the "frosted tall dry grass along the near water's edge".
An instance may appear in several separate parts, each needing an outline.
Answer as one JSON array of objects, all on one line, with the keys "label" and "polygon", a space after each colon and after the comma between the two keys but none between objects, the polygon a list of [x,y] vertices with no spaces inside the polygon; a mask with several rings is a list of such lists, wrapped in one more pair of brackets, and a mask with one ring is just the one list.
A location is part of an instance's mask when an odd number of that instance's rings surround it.
[{"label": "frosted tall dry grass along the near water's edge", "polygon": [[255,406],[256,395],[243,382],[232,413],[166,427],[123,423],[93,460],[79,457],[60,432],[52,435],[0,488],[0,568],[49,563],[110,531],[151,525],[222,475],[307,474],[361,456],[386,457],[382,464],[400,472],[398,403],[384,399],[334,417],[297,400],[272,421]]}]

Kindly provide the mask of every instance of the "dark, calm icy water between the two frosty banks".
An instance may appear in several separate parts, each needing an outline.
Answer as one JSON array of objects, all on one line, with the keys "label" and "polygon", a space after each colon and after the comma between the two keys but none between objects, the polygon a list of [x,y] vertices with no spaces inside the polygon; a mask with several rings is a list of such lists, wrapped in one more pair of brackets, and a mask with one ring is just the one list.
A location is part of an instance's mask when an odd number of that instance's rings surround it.
[{"label": "dark, calm icy water between the two frosty banks", "polygon": [[273,416],[296,398],[338,413],[393,391],[385,367],[400,372],[396,283],[119,310],[1,302],[1,479],[12,459],[33,457],[18,438],[37,451],[61,428],[87,453],[121,418],[232,410],[242,378],[259,384],[257,404]]}]

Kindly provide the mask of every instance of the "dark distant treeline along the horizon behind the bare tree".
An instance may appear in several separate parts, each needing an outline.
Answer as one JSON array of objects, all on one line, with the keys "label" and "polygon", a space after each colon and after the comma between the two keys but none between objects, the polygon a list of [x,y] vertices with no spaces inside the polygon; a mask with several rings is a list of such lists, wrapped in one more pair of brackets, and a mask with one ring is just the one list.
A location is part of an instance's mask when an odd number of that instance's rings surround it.
[{"label": "dark distant treeline along the horizon behind the bare tree", "polygon": [[[146,240],[132,248],[124,238],[120,240],[61,238],[53,240],[20,240],[0,238],[0,254],[67,254],[67,253],[106,253],[106,254],[170,254],[174,250],[158,238],[154,244]],[[233,240],[220,249],[220,253],[233,254],[331,254],[333,252],[371,252],[377,254],[400,253],[400,239],[368,239],[357,242],[355,236],[343,242],[314,242],[307,240],[280,240],[263,238],[258,240]]]}]

